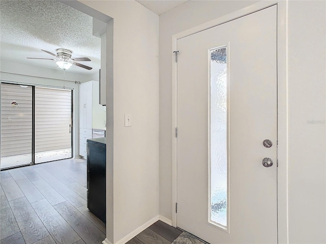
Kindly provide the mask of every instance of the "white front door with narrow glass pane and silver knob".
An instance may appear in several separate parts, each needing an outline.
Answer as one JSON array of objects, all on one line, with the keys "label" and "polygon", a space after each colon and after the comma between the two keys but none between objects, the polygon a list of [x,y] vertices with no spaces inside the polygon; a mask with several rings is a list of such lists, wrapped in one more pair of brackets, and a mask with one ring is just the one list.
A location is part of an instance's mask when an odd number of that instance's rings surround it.
[{"label": "white front door with narrow glass pane and silver knob", "polygon": [[177,226],[211,244],[277,243],[277,6],[177,48]]}]

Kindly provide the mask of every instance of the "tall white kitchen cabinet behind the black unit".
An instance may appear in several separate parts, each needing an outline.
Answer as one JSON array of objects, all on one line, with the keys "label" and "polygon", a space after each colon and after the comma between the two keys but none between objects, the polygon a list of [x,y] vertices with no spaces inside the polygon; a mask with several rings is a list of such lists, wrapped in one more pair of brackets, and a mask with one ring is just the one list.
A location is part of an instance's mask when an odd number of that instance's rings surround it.
[{"label": "tall white kitchen cabinet behind the black unit", "polygon": [[106,127],[105,107],[99,104],[99,82],[88,81],[79,86],[79,155],[87,157],[86,141],[93,128]]}]

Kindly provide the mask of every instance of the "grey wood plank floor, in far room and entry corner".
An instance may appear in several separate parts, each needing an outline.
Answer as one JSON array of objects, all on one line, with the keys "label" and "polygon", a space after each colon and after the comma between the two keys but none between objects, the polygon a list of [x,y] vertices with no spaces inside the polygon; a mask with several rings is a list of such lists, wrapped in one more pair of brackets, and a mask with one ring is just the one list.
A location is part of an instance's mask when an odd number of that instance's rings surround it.
[{"label": "grey wood plank floor, in far room and entry corner", "polygon": [[[101,244],[105,224],[87,208],[87,165],[67,159],[0,172],[0,244]],[[171,244],[161,221],[128,244]]]}]

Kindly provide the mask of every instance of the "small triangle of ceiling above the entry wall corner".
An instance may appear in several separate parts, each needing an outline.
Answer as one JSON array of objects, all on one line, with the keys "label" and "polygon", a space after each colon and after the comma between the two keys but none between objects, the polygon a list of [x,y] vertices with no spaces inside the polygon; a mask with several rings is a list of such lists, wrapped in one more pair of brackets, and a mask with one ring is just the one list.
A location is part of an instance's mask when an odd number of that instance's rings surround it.
[{"label": "small triangle of ceiling above the entry wall corner", "polygon": [[188,2],[188,0],[186,0],[186,1],[184,1],[184,0],[177,0],[177,1],[136,0],[136,1],[158,15],[165,13],[165,12],[169,11],[170,9],[174,9],[175,7],[181,5],[185,2]]}]

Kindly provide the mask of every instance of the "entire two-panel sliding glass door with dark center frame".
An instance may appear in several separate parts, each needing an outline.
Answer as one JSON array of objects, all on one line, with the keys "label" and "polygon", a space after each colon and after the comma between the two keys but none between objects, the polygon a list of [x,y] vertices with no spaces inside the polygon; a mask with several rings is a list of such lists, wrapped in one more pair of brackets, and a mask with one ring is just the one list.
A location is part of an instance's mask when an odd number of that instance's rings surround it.
[{"label": "entire two-panel sliding glass door with dark center frame", "polygon": [[1,83],[1,169],[72,158],[72,90]]}]

